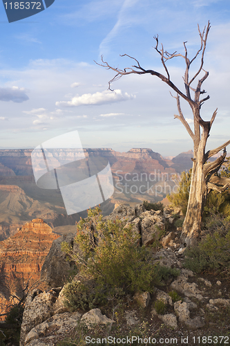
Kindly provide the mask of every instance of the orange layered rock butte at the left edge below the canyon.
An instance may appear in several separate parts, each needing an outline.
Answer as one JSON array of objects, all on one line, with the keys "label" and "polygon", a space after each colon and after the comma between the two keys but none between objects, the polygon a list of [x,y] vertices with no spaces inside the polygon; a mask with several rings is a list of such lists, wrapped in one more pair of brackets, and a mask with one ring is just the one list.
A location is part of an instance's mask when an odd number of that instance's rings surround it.
[{"label": "orange layered rock butte at the left edge below the canyon", "polygon": [[41,266],[53,240],[58,237],[42,219],[33,219],[19,228],[15,235],[0,242],[2,307],[8,304],[11,294],[21,298],[29,279],[30,286],[39,280]]}]

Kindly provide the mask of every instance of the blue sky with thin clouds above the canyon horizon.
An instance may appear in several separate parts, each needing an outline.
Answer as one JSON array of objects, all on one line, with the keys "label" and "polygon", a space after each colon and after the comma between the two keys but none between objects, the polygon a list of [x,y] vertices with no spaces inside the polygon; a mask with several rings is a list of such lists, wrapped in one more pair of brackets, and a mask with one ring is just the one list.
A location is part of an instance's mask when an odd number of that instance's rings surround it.
[{"label": "blue sky with thin clouds above the canyon horizon", "polygon": [[[5,1],[3,1],[4,3]],[[162,156],[193,149],[170,88],[153,75],[125,75],[108,90],[115,73],[95,62],[164,73],[154,36],[164,49],[193,57],[200,46],[198,24],[211,22],[204,57],[210,95],[201,116],[218,108],[207,149],[230,139],[229,0],[55,0],[37,15],[8,23],[0,3],[0,147],[35,148],[77,130],[83,147],[119,152],[151,148]],[[199,56],[191,73],[198,69]],[[184,60],[168,63],[171,80],[182,91]],[[175,95],[175,93],[173,93]],[[184,118],[193,116],[182,102]],[[230,152],[227,149],[227,152]]]}]

